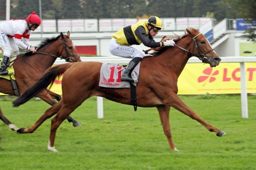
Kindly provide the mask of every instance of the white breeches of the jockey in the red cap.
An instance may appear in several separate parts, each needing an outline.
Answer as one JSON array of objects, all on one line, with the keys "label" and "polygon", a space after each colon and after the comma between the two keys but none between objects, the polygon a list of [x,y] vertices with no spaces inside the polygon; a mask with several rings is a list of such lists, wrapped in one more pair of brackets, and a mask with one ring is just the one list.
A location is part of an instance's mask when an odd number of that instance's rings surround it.
[{"label": "white breeches of the jockey in the red cap", "polygon": [[14,37],[9,38],[0,31],[0,46],[4,51],[4,55],[10,57],[11,54],[18,55],[20,53],[18,45],[16,45]]}]

